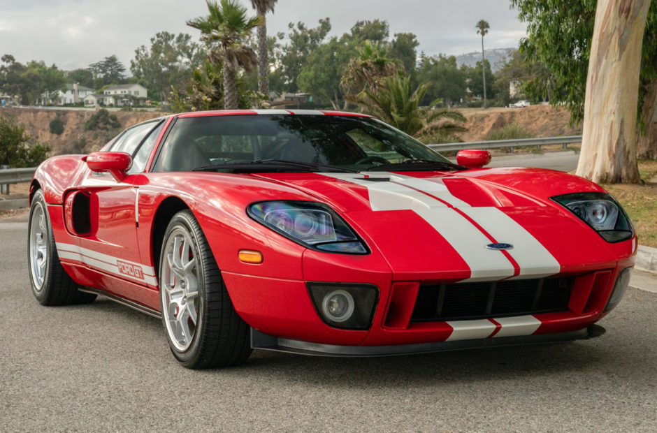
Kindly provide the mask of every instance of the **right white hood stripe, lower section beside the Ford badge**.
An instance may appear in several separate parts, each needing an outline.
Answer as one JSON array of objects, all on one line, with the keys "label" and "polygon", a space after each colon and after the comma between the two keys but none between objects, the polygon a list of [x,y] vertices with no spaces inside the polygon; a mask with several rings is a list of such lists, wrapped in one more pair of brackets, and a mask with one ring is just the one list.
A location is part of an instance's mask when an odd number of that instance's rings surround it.
[{"label": "right white hood stripe, lower section beside the Ford badge", "polygon": [[561,272],[561,265],[538,240],[519,223],[496,207],[461,209],[482,226],[497,242],[512,244],[507,250],[520,267],[514,279],[541,278]]}]

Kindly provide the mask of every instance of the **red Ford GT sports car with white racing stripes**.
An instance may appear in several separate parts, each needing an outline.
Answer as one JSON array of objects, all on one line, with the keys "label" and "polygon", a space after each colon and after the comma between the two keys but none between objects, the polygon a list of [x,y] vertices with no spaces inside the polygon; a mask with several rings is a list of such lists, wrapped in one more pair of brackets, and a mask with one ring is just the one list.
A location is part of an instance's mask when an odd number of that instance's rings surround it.
[{"label": "red Ford GT sports car with white racing stripes", "polygon": [[635,262],[621,205],[574,175],[482,168],[485,151],[457,161],[347,112],[143,122],[36,170],[31,287],[161,317],[192,368],[599,335]]}]

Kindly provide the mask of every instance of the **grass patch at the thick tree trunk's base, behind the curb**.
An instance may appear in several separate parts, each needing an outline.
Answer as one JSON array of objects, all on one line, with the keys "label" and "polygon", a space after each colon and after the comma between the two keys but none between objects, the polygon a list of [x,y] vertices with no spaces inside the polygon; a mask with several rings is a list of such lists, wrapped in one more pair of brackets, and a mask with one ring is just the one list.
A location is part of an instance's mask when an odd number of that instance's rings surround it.
[{"label": "grass patch at the thick tree trunk's base, behind the curb", "polygon": [[[639,161],[639,173],[644,185],[602,185],[619,200],[630,216],[639,244],[657,248],[657,161]],[[657,180],[657,179],[655,179]]]}]

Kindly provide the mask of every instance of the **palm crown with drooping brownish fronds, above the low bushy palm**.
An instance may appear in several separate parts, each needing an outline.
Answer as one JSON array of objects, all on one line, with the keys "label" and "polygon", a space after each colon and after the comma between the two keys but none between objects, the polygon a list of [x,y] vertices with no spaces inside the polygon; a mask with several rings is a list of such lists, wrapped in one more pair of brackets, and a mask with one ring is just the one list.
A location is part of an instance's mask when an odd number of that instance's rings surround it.
[{"label": "palm crown with drooping brownish fronds, above the low bushy palm", "polygon": [[365,41],[356,50],[358,55],[349,61],[340,79],[340,85],[347,91],[376,90],[384,78],[403,71],[401,61],[387,57],[386,47],[378,41]]}]

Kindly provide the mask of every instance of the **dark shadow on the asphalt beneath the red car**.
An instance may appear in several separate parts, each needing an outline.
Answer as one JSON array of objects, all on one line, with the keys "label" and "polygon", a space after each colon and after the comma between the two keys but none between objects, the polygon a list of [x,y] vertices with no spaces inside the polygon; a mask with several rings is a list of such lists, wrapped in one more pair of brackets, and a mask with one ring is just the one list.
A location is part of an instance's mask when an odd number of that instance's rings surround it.
[{"label": "dark shadow on the asphalt beneath the red car", "polygon": [[[161,322],[105,298],[99,298],[84,308],[88,314],[99,314],[103,320],[115,322],[117,329],[139,328],[142,335],[152,333],[153,339],[166,344]],[[105,323],[107,328],[109,323]],[[623,327],[624,328],[624,327]],[[293,353],[256,350],[246,365],[225,369],[192,371],[175,366],[168,350],[154,363],[165,362],[166,368],[179,368],[187,376],[204,376],[219,379],[230,376],[249,376],[250,379],[279,381],[281,386],[291,383],[324,386],[335,390],[362,388],[407,388],[409,386],[447,386],[455,383],[467,385],[482,381],[522,381],[541,376],[571,374],[614,374],[618,366],[637,377],[630,378],[640,386],[640,373],[654,352],[646,353],[623,342],[623,332],[614,330],[602,337],[577,342],[536,344],[449,351],[421,355],[399,355],[375,358],[327,358]],[[152,342],[152,340],[150,340]],[[136,343],[136,342],[133,342]],[[136,343],[138,344],[138,343]],[[149,342],[144,342],[149,344]]]}]

